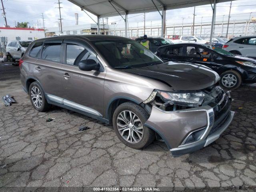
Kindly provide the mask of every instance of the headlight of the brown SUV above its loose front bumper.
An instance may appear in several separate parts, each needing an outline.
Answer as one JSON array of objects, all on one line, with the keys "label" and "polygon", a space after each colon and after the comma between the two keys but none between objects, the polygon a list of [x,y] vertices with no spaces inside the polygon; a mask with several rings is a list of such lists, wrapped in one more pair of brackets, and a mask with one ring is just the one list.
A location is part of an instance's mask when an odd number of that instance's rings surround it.
[{"label": "headlight of the brown SUV above its loose front bumper", "polygon": [[202,105],[206,94],[204,92],[165,92],[156,90],[165,102],[175,105],[196,107]]}]

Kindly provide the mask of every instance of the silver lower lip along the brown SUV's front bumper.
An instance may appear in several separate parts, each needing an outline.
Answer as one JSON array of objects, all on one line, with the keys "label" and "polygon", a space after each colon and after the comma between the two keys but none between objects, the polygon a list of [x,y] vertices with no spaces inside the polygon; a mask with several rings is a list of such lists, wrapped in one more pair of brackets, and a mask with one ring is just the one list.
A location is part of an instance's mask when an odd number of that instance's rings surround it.
[{"label": "silver lower lip along the brown SUV's front bumper", "polygon": [[217,140],[220,135],[228,128],[230,123],[232,122],[232,119],[234,117],[234,111],[230,111],[228,118],[226,119],[226,122],[222,124],[222,126],[213,132],[212,134],[208,135],[205,140],[201,140],[200,142],[197,142],[195,144],[189,144],[186,146],[178,146],[177,148],[170,149],[173,156],[181,156],[184,154],[192,153],[194,151],[197,151],[199,149],[204,148],[205,146],[208,146],[215,140]]}]

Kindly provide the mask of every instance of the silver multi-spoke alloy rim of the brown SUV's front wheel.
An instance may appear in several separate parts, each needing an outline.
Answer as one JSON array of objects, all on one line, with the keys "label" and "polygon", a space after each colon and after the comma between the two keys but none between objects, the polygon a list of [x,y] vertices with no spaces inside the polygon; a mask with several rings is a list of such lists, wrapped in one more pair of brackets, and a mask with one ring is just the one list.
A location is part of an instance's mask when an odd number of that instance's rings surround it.
[{"label": "silver multi-spoke alloy rim of the brown SUV's front wheel", "polygon": [[124,110],[117,116],[116,125],[119,134],[129,143],[142,140],[144,127],[140,118],[130,110]]}]

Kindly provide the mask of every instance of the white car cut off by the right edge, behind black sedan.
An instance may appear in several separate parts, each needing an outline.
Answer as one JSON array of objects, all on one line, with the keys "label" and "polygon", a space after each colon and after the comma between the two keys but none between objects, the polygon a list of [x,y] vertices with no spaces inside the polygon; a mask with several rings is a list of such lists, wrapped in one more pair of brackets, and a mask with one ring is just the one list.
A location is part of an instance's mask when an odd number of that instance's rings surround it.
[{"label": "white car cut off by the right edge, behind black sedan", "polygon": [[233,54],[256,58],[256,36],[231,38],[222,49]]}]

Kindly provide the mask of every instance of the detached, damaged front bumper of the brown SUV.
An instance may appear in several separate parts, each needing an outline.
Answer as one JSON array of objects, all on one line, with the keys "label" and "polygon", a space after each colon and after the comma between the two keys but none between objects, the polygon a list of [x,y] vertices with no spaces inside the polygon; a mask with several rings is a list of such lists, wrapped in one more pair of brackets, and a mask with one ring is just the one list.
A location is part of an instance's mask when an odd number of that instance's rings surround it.
[{"label": "detached, damaged front bumper of the brown SUV", "polygon": [[217,140],[234,117],[228,96],[218,105],[177,111],[164,111],[153,106],[145,126],[155,130],[173,156],[192,153]]}]

